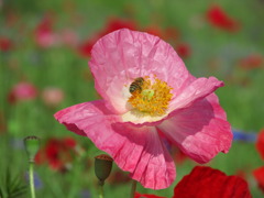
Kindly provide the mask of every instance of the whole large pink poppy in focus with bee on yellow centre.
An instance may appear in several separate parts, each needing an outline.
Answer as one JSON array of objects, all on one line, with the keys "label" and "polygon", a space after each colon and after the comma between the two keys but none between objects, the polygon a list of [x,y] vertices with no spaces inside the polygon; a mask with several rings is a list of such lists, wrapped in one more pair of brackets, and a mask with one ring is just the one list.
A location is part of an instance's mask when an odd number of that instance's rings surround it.
[{"label": "whole large pink poppy in focus with bee on yellow centre", "polygon": [[102,100],[75,105],[55,118],[88,136],[145,188],[166,188],[176,177],[160,135],[198,163],[229,151],[230,124],[213,94],[223,82],[191,76],[160,37],[112,32],[95,44],[89,66]]}]

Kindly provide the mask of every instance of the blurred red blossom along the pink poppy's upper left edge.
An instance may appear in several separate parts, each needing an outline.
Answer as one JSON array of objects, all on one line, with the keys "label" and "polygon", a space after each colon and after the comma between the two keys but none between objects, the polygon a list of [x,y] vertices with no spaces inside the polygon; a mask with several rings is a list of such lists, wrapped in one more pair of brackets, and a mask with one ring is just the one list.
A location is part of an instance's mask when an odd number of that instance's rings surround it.
[{"label": "blurred red blossom along the pink poppy's upper left edge", "polygon": [[136,25],[133,21],[112,18],[108,21],[103,30],[99,31],[90,38],[86,40],[82,44],[80,44],[80,46],[78,47],[78,52],[81,56],[90,57],[91,47],[100,37],[119,29],[135,30],[135,26]]}]

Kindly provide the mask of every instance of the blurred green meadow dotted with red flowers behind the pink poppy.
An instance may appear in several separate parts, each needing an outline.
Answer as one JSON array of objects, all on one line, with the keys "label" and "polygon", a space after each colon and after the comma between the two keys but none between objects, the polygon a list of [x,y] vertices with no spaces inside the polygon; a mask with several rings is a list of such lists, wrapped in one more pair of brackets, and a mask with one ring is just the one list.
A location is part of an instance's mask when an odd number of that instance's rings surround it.
[{"label": "blurred green meadow dotted with red flowers behind the pink poppy", "polygon": [[[224,81],[217,95],[235,139],[228,154],[208,165],[243,177],[253,197],[262,197],[252,173],[264,165],[255,148],[264,127],[263,19],[263,0],[0,0],[1,194],[12,197],[8,186],[28,184],[23,139],[36,135],[36,197],[97,197],[94,157],[101,152],[53,114],[100,98],[88,68],[91,46],[128,28],[168,42],[194,76]],[[139,185],[139,191],[172,197],[197,165],[176,147],[170,153],[177,166],[172,187],[154,191]],[[114,165],[105,188],[106,197],[127,195],[128,174]]]}]

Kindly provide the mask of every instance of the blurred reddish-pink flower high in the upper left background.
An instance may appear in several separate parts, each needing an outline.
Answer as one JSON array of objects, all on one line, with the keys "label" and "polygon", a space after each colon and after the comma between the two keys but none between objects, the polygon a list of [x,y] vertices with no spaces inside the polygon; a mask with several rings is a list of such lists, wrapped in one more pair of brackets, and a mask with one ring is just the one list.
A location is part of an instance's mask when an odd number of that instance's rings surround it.
[{"label": "blurred reddish-pink flower high in the upper left background", "polygon": [[46,48],[57,44],[58,36],[53,30],[52,18],[44,18],[35,29],[35,42],[38,46]]}]

